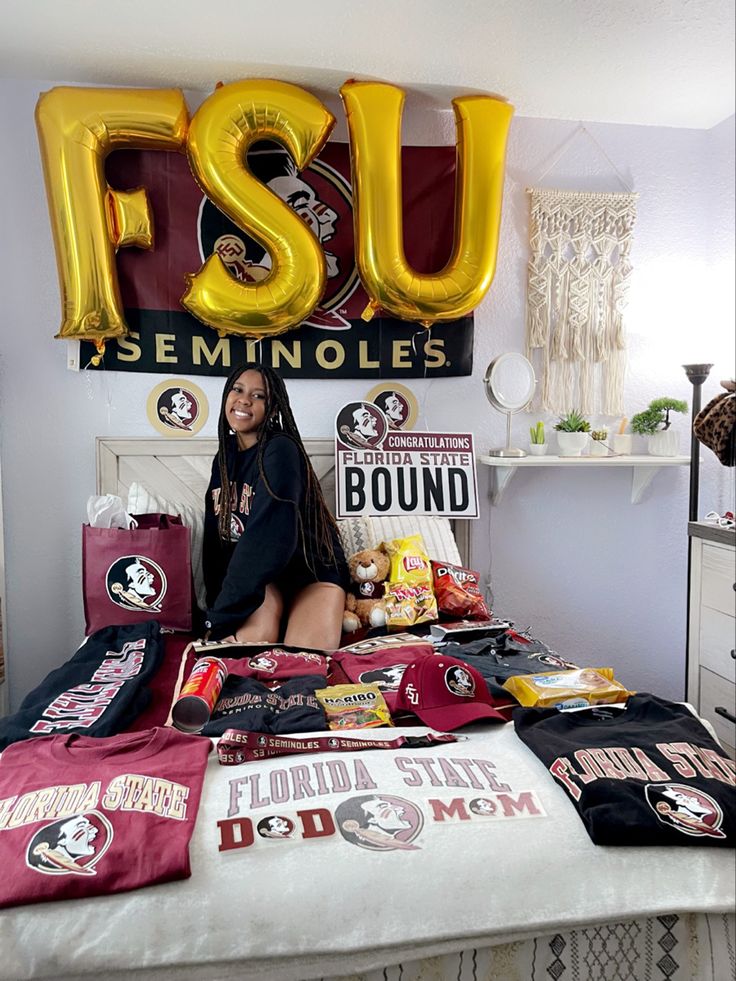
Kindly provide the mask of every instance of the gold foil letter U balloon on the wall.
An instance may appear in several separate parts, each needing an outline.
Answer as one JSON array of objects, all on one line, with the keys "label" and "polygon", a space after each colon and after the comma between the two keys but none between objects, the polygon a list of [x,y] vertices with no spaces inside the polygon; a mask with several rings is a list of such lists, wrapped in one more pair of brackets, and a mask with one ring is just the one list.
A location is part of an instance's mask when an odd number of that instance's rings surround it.
[{"label": "gold foil letter U balloon on the wall", "polygon": [[350,133],[355,255],[370,319],[379,307],[425,326],[470,313],[496,271],[504,157],[513,106],[486,95],[452,100],[457,129],[455,239],[438,273],[407,264],[401,214],[404,93],[380,82],[340,90]]}]

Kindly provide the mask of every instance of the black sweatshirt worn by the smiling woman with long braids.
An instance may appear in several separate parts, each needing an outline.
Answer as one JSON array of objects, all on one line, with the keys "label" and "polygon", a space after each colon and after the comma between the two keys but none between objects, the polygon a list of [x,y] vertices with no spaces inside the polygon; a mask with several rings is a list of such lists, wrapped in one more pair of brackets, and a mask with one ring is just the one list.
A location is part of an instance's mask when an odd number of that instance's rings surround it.
[{"label": "black sweatshirt worn by the smiling woman with long braids", "polygon": [[345,557],[334,532],[337,564],[319,556],[314,530],[305,514],[306,471],[296,443],[278,433],[266,444],[263,469],[275,497],[269,494],[258,471],[257,445],[240,450],[233,437],[227,459],[233,512],[231,541],[221,541],[217,527],[222,495],[217,457],[205,499],[205,625],[213,640],[234,633],[258,609],[269,583],[287,597],[313,582],[332,582],[343,588],[347,584]]}]

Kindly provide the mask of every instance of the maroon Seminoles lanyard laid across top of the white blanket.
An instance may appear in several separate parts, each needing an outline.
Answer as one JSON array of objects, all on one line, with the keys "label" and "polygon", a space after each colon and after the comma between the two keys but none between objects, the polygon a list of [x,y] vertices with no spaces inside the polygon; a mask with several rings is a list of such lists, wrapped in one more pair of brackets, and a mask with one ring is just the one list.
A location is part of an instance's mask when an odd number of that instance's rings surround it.
[{"label": "maroon Seminoles lanyard laid across top of the white blanket", "polygon": [[428,732],[425,736],[396,736],[394,739],[350,739],[344,736],[269,736],[263,732],[226,729],[217,744],[217,758],[223,766],[252,760],[267,760],[292,753],[354,753],[362,749],[420,749],[435,743],[456,743],[465,736],[450,732]]}]

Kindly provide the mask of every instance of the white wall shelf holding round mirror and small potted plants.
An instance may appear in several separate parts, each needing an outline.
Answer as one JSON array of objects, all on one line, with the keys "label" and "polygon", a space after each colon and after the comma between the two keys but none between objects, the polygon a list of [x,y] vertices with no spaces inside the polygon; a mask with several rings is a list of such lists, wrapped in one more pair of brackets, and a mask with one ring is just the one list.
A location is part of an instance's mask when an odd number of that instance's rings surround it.
[{"label": "white wall shelf holding round mirror and small potted plants", "polygon": [[644,491],[664,467],[687,467],[689,456],[480,456],[480,463],[491,467],[491,503],[498,504],[519,469],[527,467],[604,467],[606,469],[630,467],[631,503],[638,504]]}]

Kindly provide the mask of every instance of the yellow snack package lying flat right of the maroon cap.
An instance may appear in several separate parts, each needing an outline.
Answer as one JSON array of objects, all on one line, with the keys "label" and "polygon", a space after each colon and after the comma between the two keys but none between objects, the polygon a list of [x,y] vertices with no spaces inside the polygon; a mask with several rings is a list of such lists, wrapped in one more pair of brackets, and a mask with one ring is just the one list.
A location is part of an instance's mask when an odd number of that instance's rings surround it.
[{"label": "yellow snack package lying flat right of the maroon cap", "polygon": [[524,706],[561,710],[625,702],[634,694],[616,681],[613,668],[517,675],[503,687]]}]

